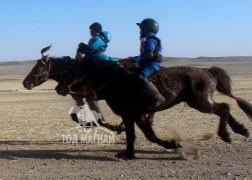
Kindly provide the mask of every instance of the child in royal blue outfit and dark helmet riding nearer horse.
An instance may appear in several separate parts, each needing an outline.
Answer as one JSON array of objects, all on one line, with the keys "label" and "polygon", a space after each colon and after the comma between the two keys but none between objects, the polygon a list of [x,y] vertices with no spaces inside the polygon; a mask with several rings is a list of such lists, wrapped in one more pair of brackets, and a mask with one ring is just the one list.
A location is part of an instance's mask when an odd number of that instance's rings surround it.
[{"label": "child in royal blue outfit and dark helmet riding nearer horse", "polygon": [[154,19],[147,18],[137,25],[140,28],[140,55],[129,59],[140,65],[137,83],[150,100],[148,109],[154,109],[165,102],[165,98],[159,93],[155,85],[148,80],[152,74],[159,70],[162,61],[162,45],[156,37],[159,24]]}]

